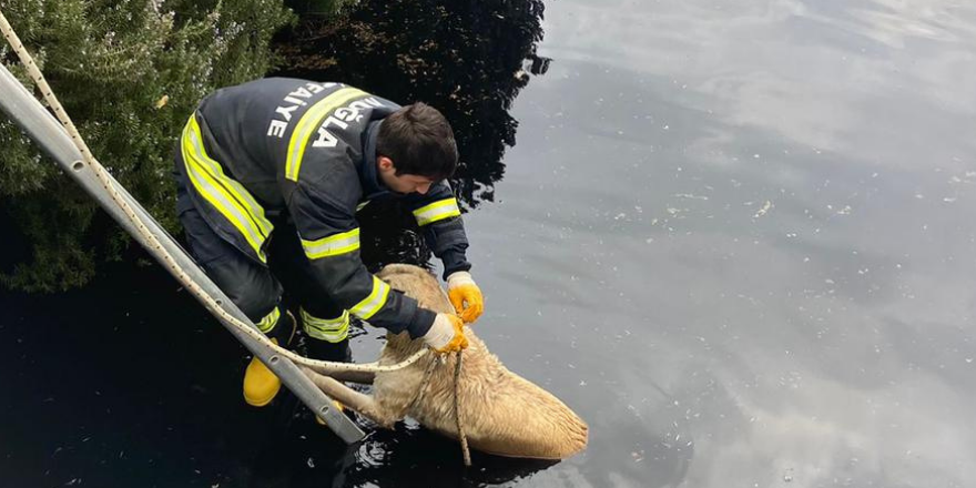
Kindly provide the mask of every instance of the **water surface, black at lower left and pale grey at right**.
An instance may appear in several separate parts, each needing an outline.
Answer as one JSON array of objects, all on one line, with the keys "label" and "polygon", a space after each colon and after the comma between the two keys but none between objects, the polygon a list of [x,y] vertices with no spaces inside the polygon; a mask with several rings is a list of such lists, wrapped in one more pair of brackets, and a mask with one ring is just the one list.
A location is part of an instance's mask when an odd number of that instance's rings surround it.
[{"label": "water surface, black at lower left and pale grey at right", "polygon": [[245,407],[230,335],[123,267],[0,296],[0,486],[976,486],[976,4],[560,0],[543,28],[467,224],[480,336],[584,454],[345,449]]}]

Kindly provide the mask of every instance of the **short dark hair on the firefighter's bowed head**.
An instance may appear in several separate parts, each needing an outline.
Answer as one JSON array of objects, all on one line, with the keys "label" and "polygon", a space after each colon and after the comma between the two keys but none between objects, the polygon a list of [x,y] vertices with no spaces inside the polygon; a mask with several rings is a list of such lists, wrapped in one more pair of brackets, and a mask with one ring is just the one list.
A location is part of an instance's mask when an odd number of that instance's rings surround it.
[{"label": "short dark hair on the firefighter's bowed head", "polygon": [[458,160],[447,119],[421,102],[406,105],[383,120],[376,153],[393,160],[397,176],[416,174],[435,181],[450,177]]}]

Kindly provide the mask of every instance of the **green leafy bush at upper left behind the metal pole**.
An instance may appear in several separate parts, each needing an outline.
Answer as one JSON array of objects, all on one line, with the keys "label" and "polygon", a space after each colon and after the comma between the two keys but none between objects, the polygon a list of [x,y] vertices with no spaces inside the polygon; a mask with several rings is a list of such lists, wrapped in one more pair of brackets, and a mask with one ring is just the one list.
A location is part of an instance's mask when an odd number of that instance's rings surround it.
[{"label": "green leafy bush at upper left behind the metal pole", "polygon": [[[95,157],[169,228],[172,151],[186,118],[211,91],[263,77],[271,37],[292,20],[282,0],[0,0],[0,9]],[[6,43],[0,61],[31,87]],[[121,256],[121,231],[7,120],[0,148],[0,209],[32,245],[0,283],[68,289]]]}]

